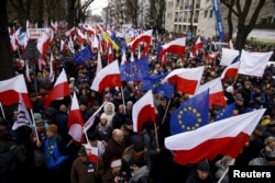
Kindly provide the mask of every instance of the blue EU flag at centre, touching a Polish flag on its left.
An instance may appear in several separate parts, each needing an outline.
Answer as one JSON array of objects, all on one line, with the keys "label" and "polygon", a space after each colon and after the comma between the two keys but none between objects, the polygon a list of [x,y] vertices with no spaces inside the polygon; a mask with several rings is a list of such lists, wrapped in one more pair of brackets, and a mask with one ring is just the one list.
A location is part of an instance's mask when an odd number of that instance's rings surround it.
[{"label": "blue EU flag at centre, touching a Polish flag on its left", "polygon": [[120,66],[122,81],[141,81],[148,75],[148,57],[142,57]]}]

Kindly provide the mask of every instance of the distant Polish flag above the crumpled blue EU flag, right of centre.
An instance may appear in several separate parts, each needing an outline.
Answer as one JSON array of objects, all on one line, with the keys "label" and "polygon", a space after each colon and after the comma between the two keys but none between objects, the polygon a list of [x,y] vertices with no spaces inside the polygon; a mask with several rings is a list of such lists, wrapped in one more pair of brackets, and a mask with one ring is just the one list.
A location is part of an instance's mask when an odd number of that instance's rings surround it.
[{"label": "distant Polish flag above the crumpled blue EU flag, right of centre", "polygon": [[185,54],[185,46],[186,46],[186,38],[185,37],[172,41],[172,42],[169,42],[169,43],[162,46],[163,48],[160,52],[160,58],[162,58],[162,56],[165,53],[184,55]]}]

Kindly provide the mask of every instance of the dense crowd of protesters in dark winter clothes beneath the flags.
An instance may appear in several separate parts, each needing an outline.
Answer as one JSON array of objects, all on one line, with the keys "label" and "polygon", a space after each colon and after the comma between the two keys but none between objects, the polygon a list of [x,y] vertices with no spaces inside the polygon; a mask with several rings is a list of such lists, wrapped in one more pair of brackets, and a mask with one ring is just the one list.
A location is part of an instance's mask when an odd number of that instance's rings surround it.
[{"label": "dense crowd of protesters in dark winter clothes beneath the flags", "polygon": [[[12,172],[4,172],[7,180],[1,178],[1,183],[22,182],[45,183],[146,183],[146,182],[218,182],[231,161],[230,157],[219,156],[212,161],[201,161],[198,164],[180,165],[173,161],[173,153],[164,146],[165,137],[169,134],[169,116],[180,103],[188,100],[185,93],[175,91],[172,99],[162,92],[153,93],[156,110],[156,127],[153,122],[146,122],[141,134],[133,131],[132,106],[144,94],[139,90],[141,82],[127,81],[123,87],[106,88],[102,93],[90,90],[90,84],[96,76],[97,54],[91,60],[77,65],[69,50],[61,52],[63,34],[55,37],[55,43],[47,52],[47,59],[53,53],[55,62],[55,78],[64,68],[67,73],[69,88],[77,93],[79,110],[84,122],[107,101],[102,111],[97,115],[95,124],[87,131],[91,146],[99,148],[98,163],[89,162],[81,144],[73,141],[68,134],[67,123],[70,99],[54,101],[51,106],[44,107],[45,98],[53,87],[48,78],[50,68],[42,70],[36,67],[32,71],[32,81],[26,80],[32,110],[34,113],[35,130],[22,126],[15,131],[11,129],[16,119],[14,116],[1,119],[0,123],[0,152],[9,150],[11,141],[18,145],[14,151],[16,165]],[[160,62],[156,57],[158,41],[167,43],[173,35],[163,34],[154,36],[153,45],[148,52],[150,75],[167,72],[177,68],[195,68],[206,66],[201,84],[219,77],[224,67],[220,66],[221,53],[215,59],[208,59],[211,50],[212,38],[201,37],[204,49],[199,50],[196,58],[190,57],[190,50],[197,37],[188,41],[184,56],[168,55],[167,61]],[[80,49],[80,44],[74,42],[75,50]],[[244,49],[253,52],[274,50],[272,46],[245,45]],[[97,50],[94,50],[97,52]],[[121,61],[121,53],[114,52],[114,59]],[[16,53],[14,53],[16,55]],[[128,60],[130,60],[130,50]],[[135,58],[138,53],[135,53]],[[20,59],[14,56],[14,60]],[[102,65],[108,62],[107,53],[101,54]],[[275,55],[271,57],[275,60]],[[25,68],[14,65],[14,71],[25,75]],[[266,164],[275,165],[275,66],[266,66],[263,77],[239,75],[222,82],[227,104],[235,102],[234,115],[243,114],[248,108],[267,108],[262,121],[251,135],[250,140],[234,160],[238,165]],[[34,83],[36,82],[36,83]],[[123,95],[123,98],[122,98]],[[122,101],[124,99],[124,102]],[[124,105],[125,104],[125,105]],[[213,105],[209,111],[209,121],[212,121],[222,106]],[[211,147],[209,147],[211,148]],[[52,163],[52,158],[58,162]],[[2,172],[1,172],[2,173]],[[228,182],[228,178],[223,178]]]}]

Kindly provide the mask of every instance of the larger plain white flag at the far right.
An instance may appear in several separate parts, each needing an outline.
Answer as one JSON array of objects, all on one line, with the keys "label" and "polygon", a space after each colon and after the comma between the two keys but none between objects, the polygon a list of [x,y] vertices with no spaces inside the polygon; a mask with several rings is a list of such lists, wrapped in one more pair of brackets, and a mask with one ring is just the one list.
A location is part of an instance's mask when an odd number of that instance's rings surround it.
[{"label": "larger plain white flag at the far right", "polygon": [[250,53],[242,49],[239,73],[254,77],[263,77],[266,64],[272,55],[273,52]]}]

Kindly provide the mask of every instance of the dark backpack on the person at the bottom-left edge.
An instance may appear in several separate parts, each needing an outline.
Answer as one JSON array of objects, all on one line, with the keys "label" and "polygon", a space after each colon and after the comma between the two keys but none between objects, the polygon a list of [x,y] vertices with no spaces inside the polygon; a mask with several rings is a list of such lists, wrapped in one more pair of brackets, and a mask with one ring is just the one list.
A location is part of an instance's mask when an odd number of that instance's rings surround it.
[{"label": "dark backpack on the person at the bottom-left edge", "polygon": [[0,176],[9,174],[14,170],[16,162],[14,156],[15,148],[16,145],[11,144],[10,148],[7,151],[0,152]]}]

